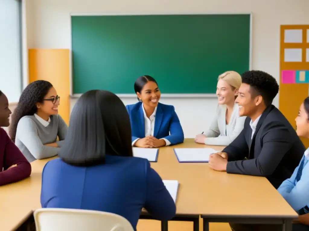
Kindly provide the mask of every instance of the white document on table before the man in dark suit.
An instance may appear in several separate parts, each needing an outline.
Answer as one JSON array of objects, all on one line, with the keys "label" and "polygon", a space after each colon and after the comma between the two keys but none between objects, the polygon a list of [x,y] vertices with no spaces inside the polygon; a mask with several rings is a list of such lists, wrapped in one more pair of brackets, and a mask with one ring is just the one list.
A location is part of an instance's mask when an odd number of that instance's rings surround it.
[{"label": "white document on table before the man in dark suit", "polygon": [[212,148],[174,148],[178,162],[208,162]]}]

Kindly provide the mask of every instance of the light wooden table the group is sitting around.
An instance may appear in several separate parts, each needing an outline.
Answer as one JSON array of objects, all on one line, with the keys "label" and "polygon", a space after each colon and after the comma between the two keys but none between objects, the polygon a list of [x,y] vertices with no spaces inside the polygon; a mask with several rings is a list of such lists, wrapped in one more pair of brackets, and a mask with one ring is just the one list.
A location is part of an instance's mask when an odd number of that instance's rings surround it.
[{"label": "light wooden table the group is sitting around", "polygon": [[[179,181],[176,220],[201,214],[204,230],[208,222],[286,223],[286,231],[290,230],[297,213],[266,178],[217,172],[207,163],[179,163],[173,152],[173,148],[201,147],[205,145],[186,139],[183,144],[160,148],[158,162],[151,163],[163,180]],[[15,230],[32,210],[41,207],[41,172],[46,162],[32,162],[29,178],[0,187],[1,231]]]}]

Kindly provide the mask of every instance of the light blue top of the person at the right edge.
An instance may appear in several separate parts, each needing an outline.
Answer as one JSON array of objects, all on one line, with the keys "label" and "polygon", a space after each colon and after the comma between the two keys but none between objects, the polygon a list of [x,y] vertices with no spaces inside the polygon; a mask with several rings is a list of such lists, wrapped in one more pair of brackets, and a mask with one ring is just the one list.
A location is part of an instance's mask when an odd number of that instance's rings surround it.
[{"label": "light blue top of the person at the right edge", "polygon": [[278,192],[290,204],[290,206],[299,213],[304,209],[308,213],[309,205],[309,148],[305,151],[303,158],[295,168],[292,176],[282,182]]}]

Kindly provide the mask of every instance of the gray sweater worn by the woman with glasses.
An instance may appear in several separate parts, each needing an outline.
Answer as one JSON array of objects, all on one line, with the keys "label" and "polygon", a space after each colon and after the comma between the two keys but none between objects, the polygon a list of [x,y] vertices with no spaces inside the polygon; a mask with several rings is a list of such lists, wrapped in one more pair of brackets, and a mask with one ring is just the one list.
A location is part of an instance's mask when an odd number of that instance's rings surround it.
[{"label": "gray sweater worn by the woman with glasses", "polygon": [[[51,115],[45,127],[34,115],[22,117],[17,125],[15,144],[29,162],[56,156],[66,137],[67,125],[60,115]],[[57,136],[59,141],[57,141]],[[58,148],[45,146],[57,142]]]}]

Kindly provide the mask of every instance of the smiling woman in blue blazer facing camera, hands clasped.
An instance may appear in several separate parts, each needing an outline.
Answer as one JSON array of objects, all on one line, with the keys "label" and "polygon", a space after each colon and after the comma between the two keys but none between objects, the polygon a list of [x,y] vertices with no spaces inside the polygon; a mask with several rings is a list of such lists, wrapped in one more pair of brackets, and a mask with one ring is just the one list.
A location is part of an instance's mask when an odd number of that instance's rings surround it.
[{"label": "smiling woman in blue blazer facing camera, hands clasped", "polygon": [[184,142],[184,132],[175,107],[159,103],[161,92],[154,78],[139,77],[134,83],[139,102],[127,105],[132,146],[153,148]]}]

